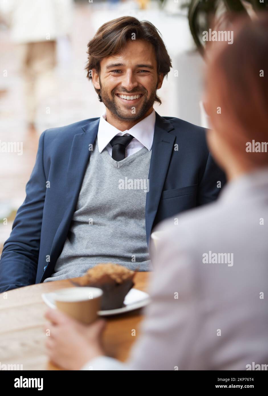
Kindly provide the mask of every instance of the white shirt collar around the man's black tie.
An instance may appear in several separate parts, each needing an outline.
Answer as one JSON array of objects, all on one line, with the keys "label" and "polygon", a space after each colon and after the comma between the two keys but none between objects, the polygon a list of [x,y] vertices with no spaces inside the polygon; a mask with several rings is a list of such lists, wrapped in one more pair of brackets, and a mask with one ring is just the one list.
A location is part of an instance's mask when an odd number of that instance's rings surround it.
[{"label": "white shirt collar around the man's black tie", "polygon": [[155,122],[156,112],[153,110],[151,114],[135,124],[132,128],[126,129],[122,132],[106,121],[106,113],[104,113],[100,118],[97,135],[99,152],[102,152],[106,147],[108,153],[112,156],[112,146],[110,145],[110,141],[115,136],[123,136],[125,134],[132,135],[134,137],[126,147],[125,157],[134,154],[143,147],[146,147],[147,150],[150,151],[154,140]]}]

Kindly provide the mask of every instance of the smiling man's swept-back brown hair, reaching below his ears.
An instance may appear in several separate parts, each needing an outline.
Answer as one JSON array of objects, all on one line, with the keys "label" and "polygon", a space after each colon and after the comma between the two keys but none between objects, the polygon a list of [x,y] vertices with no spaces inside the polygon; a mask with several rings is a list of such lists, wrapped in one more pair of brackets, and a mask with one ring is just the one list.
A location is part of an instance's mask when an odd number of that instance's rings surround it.
[{"label": "smiling man's swept-back brown hair, reaching below his ears", "polygon": [[[92,40],[87,44],[87,78],[91,77],[91,70],[100,71],[100,62],[103,58],[110,55],[118,55],[125,49],[127,40],[131,40],[132,34],[135,33],[136,40],[146,40],[150,42],[156,52],[156,61],[158,74],[167,76],[170,71],[171,59],[165,48],[165,44],[160,37],[160,32],[152,23],[148,21],[139,21],[134,17],[120,17],[104,23],[98,30]],[[101,100],[100,89],[95,91]],[[161,100],[156,95],[156,101],[161,104]]]}]

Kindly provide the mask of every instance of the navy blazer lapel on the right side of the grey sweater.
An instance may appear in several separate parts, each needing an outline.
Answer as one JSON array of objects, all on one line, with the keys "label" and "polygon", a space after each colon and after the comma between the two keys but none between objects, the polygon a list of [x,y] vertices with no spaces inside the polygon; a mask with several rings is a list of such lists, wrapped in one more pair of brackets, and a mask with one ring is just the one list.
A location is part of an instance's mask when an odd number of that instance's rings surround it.
[{"label": "navy blazer lapel on the right side of the grey sweater", "polygon": [[156,113],[154,140],[149,169],[149,191],[146,194],[145,223],[147,245],[150,244],[150,235],[156,211],[162,194],[165,177],[169,166],[175,135],[169,133],[174,129],[171,122]]}]

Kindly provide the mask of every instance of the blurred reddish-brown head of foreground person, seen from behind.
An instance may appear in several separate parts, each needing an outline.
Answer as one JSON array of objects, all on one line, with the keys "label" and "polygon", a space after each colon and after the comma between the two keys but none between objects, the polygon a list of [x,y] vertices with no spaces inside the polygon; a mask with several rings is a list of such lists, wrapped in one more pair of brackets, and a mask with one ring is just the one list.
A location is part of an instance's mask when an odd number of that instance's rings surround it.
[{"label": "blurred reddish-brown head of foreground person, seen from behind", "polygon": [[249,156],[245,147],[252,140],[268,141],[268,14],[236,21],[232,30],[233,44],[215,43],[208,52],[207,84],[213,91],[209,115],[239,156],[255,165],[267,164],[267,153]]}]

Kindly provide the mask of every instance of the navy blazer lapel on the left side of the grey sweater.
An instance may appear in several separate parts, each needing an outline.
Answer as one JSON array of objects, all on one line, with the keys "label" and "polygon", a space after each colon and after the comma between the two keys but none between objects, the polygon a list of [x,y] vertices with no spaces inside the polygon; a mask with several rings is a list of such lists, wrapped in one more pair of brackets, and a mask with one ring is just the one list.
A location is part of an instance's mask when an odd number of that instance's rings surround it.
[{"label": "navy blazer lapel on the left side of the grey sweater", "polygon": [[50,261],[54,261],[60,254],[67,237],[72,215],[78,200],[80,188],[84,179],[91,150],[97,137],[99,118],[82,127],[81,132],[74,135],[67,169],[66,210],[57,229],[50,252]]}]

